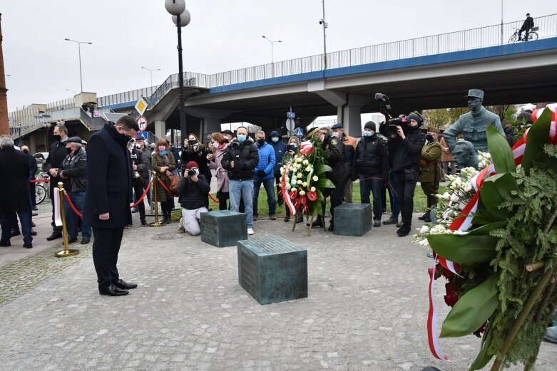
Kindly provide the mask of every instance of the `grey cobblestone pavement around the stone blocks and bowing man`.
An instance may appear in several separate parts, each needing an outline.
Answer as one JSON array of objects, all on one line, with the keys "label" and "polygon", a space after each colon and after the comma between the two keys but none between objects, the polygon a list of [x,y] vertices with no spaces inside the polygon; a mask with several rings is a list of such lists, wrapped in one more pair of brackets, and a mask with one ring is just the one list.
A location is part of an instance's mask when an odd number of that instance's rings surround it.
[{"label": "grey cobblestone pavement around the stone blocks and bowing man", "polygon": [[[134,223],[119,262],[122,278],[139,284],[129,296],[98,295],[90,246],[0,267],[0,370],[468,370],[478,352],[472,336],[443,339],[451,362],[433,360],[431,259],[394,226],[308,237],[302,224],[292,232],[281,219],[255,221],[250,238],[307,249],[309,271],[308,298],[259,305],[238,285],[235,247],[175,234],[177,224]],[[543,343],[536,370],[555,370],[556,347]]]}]

